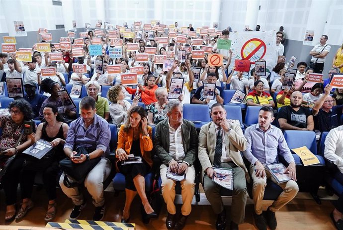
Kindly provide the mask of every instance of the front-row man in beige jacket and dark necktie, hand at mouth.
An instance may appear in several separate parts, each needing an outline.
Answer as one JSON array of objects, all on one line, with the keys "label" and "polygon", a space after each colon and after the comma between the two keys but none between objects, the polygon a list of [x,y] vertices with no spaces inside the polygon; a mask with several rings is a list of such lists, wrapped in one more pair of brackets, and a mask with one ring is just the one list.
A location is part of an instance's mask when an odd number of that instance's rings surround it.
[{"label": "front-row man in beige jacket and dark necktie, hand at mouth", "polygon": [[223,105],[216,103],[211,107],[212,120],[201,127],[199,133],[198,157],[202,166],[203,187],[207,200],[218,215],[217,230],[226,229],[226,211],[221,198],[221,187],[212,181],[214,168],[232,169],[233,196],[231,207],[231,230],[238,230],[244,222],[247,201],[246,180],[250,180],[248,170],[240,151],[247,146],[247,139],[239,124],[229,123]]}]

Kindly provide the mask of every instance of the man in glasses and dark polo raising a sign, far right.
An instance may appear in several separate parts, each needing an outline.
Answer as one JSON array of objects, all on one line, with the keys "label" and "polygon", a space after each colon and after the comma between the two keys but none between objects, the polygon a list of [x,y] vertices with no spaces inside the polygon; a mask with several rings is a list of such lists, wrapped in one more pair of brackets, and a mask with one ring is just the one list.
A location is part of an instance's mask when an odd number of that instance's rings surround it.
[{"label": "man in glasses and dark polo raising a sign, far right", "polygon": [[324,96],[316,102],[312,109],[315,130],[321,132],[330,131],[338,127],[341,115],[343,114],[343,106],[334,106],[334,99],[330,96],[331,90],[331,86],[326,86]]}]

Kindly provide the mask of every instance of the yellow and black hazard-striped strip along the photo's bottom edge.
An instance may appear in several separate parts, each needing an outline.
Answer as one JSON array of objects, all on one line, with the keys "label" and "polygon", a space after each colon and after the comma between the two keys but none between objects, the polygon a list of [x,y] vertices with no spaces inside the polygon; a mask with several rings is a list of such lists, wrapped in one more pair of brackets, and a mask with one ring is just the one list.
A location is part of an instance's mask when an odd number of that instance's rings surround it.
[{"label": "yellow and black hazard-striped strip along the photo's bottom edge", "polygon": [[84,230],[134,230],[135,228],[129,227],[114,227],[114,226],[99,226],[99,225],[80,225],[69,223],[56,223],[49,222],[45,228],[58,228],[58,229],[84,229]]}]

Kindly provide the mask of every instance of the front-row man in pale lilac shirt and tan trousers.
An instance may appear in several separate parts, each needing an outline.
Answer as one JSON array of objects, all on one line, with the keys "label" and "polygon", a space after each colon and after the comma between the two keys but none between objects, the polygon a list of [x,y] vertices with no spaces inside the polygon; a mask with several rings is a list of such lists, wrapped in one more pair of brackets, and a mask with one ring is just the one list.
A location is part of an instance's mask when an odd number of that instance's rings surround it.
[{"label": "front-row man in pale lilac shirt and tan trousers", "polygon": [[[247,150],[244,156],[251,163],[250,174],[253,178],[253,197],[255,206],[255,223],[258,230],[267,230],[267,225],[271,230],[277,226],[275,212],[290,202],[299,191],[295,174],[294,158],[287,146],[282,131],[271,125],[274,120],[274,111],[271,107],[262,107],[258,113],[258,124],[246,129]],[[290,180],[278,184],[283,192],[276,201],[267,208],[265,218],[262,215],[262,200],[267,179],[277,183],[267,170],[267,164],[278,163],[277,153],[282,155],[289,166],[285,173],[289,173]],[[266,219],[266,220],[265,220]]]}]

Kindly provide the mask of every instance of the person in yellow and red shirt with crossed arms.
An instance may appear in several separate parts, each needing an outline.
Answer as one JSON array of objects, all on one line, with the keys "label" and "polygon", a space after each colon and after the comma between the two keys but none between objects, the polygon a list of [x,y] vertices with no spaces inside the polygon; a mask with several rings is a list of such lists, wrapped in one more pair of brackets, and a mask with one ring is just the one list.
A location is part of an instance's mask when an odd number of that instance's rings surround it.
[{"label": "person in yellow and red shirt with crossed arms", "polygon": [[250,92],[246,99],[247,106],[275,106],[273,98],[270,96],[269,93],[264,92],[263,88],[263,81],[257,80],[254,83],[254,91]]}]

